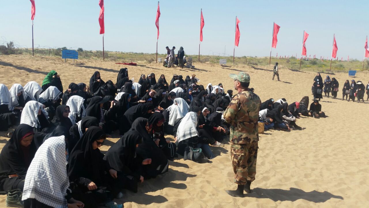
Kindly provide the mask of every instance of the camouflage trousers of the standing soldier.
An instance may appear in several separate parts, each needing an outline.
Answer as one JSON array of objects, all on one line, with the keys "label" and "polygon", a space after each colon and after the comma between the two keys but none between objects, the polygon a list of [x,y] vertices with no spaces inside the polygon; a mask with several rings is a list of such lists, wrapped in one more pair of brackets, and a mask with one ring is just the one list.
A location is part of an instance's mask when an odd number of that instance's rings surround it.
[{"label": "camouflage trousers of the standing soldier", "polygon": [[234,172],[234,182],[245,185],[254,181],[256,175],[256,158],[258,157],[258,141],[250,144],[232,144],[231,159]]}]

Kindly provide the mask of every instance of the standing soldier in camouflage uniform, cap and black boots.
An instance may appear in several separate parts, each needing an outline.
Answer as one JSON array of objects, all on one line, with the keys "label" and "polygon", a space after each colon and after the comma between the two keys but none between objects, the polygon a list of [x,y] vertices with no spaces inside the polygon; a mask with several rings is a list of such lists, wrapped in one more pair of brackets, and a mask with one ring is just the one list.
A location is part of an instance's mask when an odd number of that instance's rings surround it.
[{"label": "standing soldier in camouflage uniform, cap and black boots", "polygon": [[233,197],[244,197],[244,189],[250,193],[251,182],[255,180],[261,101],[258,95],[249,91],[250,76],[247,73],[230,74],[230,77],[234,79],[234,88],[238,94],[233,96],[223,116],[231,124],[231,159],[234,182],[238,188],[227,190],[227,193]]}]

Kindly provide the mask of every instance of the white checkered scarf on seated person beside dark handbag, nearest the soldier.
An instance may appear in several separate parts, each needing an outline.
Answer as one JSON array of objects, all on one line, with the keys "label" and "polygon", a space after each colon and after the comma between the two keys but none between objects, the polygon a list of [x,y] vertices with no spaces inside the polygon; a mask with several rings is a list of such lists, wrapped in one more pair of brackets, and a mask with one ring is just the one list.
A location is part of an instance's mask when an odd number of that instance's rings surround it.
[{"label": "white checkered scarf on seated person beside dark handbag, nearest the soldier", "polygon": [[196,130],[197,126],[197,114],[195,112],[189,112],[182,118],[181,123],[177,129],[177,141],[183,141],[188,138],[199,136],[199,132]]}]

